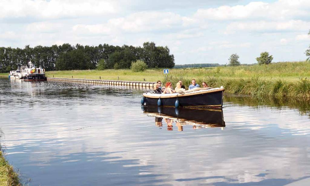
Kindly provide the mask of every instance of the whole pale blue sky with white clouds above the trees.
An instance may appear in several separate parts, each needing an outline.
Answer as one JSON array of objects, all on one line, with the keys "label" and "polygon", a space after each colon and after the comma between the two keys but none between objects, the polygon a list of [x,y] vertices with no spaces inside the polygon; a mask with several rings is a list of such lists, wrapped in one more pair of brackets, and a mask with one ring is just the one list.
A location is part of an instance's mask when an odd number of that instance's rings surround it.
[{"label": "whole pale blue sky with white clouds above the trees", "polygon": [[0,0],[0,46],[167,46],[175,64],[305,60],[309,0]]}]

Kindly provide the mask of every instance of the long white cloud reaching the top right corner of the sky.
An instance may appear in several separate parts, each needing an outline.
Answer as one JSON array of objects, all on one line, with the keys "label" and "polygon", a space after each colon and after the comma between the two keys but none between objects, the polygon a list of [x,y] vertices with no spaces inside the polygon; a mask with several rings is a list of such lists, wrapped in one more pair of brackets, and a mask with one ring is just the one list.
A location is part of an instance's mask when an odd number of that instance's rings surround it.
[{"label": "long white cloud reaching the top right corner of the sky", "polygon": [[279,0],[274,3],[250,2],[247,5],[198,9],[194,16],[199,19],[211,20],[284,20],[301,17],[309,19],[309,9],[310,1],[308,0]]}]

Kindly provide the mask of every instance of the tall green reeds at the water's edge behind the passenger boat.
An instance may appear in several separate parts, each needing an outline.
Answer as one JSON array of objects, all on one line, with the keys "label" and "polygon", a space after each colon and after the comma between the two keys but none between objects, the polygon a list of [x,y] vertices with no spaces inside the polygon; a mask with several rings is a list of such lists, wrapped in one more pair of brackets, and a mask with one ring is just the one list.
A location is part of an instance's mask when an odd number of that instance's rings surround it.
[{"label": "tall green reeds at the water's edge behind the passenger boat", "polygon": [[[179,80],[183,81],[183,84],[186,86],[191,82],[190,78],[168,77],[168,81],[171,81],[173,84],[176,84]],[[225,92],[231,94],[247,94],[252,97],[275,97],[278,99],[299,98],[310,100],[310,80],[308,78],[301,78],[299,81],[266,80],[260,76],[246,79],[229,79],[216,75],[196,78],[196,82],[200,85],[203,81],[206,81],[209,87],[224,86]]]}]

